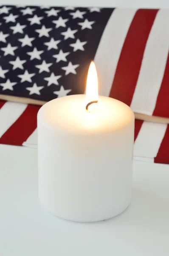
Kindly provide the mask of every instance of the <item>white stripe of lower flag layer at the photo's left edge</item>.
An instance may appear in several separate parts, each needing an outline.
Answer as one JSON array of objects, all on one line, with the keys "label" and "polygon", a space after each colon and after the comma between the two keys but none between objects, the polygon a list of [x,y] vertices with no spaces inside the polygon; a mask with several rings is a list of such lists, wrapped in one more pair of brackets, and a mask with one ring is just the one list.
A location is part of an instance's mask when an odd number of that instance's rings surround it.
[{"label": "white stripe of lower flag layer at the photo's left edge", "polygon": [[25,111],[27,104],[6,102],[0,109],[0,137]]}]

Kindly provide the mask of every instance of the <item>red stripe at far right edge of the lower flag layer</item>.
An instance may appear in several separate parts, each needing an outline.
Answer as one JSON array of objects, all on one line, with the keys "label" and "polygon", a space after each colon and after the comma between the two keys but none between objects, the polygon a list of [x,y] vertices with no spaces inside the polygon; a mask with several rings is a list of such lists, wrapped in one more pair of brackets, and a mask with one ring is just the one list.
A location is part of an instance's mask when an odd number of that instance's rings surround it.
[{"label": "red stripe at far right edge of the lower flag layer", "polygon": [[169,125],[158,150],[157,156],[154,159],[155,163],[169,163]]}]

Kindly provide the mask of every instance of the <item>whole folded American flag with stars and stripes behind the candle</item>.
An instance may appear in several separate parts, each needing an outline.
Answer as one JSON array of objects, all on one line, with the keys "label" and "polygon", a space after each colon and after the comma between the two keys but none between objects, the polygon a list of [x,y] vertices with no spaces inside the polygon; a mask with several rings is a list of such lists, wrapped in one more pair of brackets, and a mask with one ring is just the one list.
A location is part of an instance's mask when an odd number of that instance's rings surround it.
[{"label": "whole folded American flag with stars and stripes behind the candle", "polygon": [[[169,118],[168,28],[168,10],[1,6],[1,99],[84,93],[94,59],[100,95]],[[2,100],[0,143],[37,147],[38,110]],[[135,120],[136,160],[169,163],[168,145],[169,125]]]}]

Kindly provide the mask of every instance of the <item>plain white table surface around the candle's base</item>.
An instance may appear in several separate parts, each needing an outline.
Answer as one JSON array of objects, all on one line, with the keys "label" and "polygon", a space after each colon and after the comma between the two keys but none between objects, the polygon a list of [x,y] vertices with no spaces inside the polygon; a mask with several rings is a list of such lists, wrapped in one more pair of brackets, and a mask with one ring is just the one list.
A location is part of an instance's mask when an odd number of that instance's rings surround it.
[{"label": "plain white table surface around the candle's base", "polygon": [[75,223],[43,210],[37,150],[0,145],[0,256],[169,256],[169,166],[134,162],[128,209]]}]

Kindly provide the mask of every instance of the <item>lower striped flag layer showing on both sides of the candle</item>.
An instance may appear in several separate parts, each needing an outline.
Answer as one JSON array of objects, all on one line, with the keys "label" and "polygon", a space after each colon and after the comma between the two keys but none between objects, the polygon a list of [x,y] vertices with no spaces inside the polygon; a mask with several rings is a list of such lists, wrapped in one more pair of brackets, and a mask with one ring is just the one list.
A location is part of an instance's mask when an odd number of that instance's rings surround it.
[{"label": "lower striped flag layer showing on both sides of the candle", "polygon": [[[0,143],[37,148],[39,108],[37,105],[0,101]],[[134,160],[169,164],[168,124],[135,120],[134,140]]]}]

